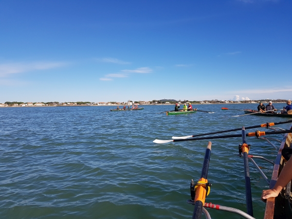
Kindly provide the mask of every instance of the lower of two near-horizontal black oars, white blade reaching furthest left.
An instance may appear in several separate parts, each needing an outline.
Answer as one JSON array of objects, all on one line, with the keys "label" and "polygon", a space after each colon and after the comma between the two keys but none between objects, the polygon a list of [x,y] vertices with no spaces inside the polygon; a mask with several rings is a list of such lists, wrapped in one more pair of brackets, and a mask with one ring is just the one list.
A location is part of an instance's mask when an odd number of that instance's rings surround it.
[{"label": "lower of two near-horizontal black oars, white blade reaching furthest left", "polygon": [[[284,131],[256,131],[256,132],[249,132],[246,136],[262,136],[262,135],[274,135],[274,134],[283,134],[283,133],[291,133],[292,129],[284,130]],[[206,140],[206,139],[219,139],[219,138],[236,138],[242,137],[242,135],[221,135],[221,136],[210,136],[210,137],[202,137],[202,138],[188,138],[188,139],[174,139],[174,140],[158,140],[155,139],[153,142],[157,144],[165,144],[169,142],[184,142],[184,141],[195,141],[195,140]]]}]

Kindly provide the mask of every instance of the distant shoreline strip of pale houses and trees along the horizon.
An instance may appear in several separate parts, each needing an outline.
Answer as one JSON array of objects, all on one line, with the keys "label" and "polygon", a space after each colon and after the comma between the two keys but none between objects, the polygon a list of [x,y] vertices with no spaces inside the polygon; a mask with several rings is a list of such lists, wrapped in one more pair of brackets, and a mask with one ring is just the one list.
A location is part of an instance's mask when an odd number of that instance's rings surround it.
[{"label": "distant shoreline strip of pale houses and trees along the horizon", "polygon": [[[188,101],[188,100],[174,100],[174,99],[163,99],[163,100],[152,100],[152,101],[131,101],[127,102],[5,102],[0,103],[0,107],[60,107],[60,106],[117,106],[117,105],[173,105],[175,103],[184,104],[238,104],[238,103],[268,103],[271,99],[263,100],[204,100],[204,101]],[[285,103],[285,99],[272,100],[273,103]]]}]

